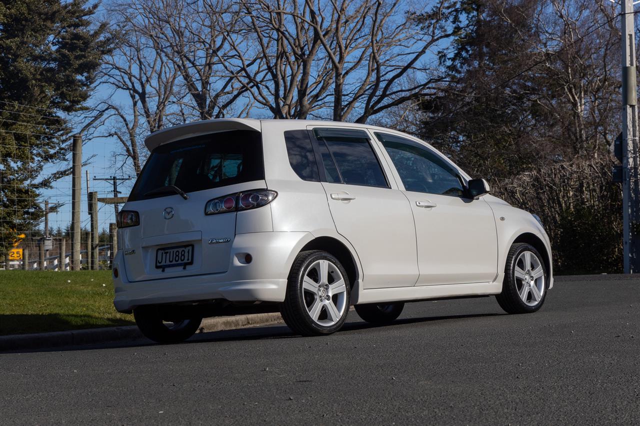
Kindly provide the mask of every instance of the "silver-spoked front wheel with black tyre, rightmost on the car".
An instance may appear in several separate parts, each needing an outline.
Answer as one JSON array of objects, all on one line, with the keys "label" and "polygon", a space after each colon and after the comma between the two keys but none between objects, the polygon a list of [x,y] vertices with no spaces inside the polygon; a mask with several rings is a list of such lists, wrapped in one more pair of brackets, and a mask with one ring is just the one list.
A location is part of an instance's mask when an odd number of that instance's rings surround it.
[{"label": "silver-spoked front wheel with black tyre, rightmost on the car", "polygon": [[516,243],[509,249],[504,267],[502,292],[496,296],[508,313],[536,312],[547,296],[547,268],[530,244]]}]

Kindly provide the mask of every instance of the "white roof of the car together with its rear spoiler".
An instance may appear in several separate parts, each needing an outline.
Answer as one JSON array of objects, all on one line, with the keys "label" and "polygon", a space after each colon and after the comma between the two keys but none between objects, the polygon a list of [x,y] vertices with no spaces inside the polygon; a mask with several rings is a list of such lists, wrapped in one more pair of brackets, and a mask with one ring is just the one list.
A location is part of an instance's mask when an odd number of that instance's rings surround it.
[{"label": "white roof of the car together with its rear spoiler", "polygon": [[200,120],[192,123],[180,124],[173,127],[153,132],[145,138],[145,145],[149,150],[153,150],[156,146],[163,143],[175,141],[177,139],[198,136],[201,134],[220,132],[224,130],[257,130],[262,129],[262,122],[279,122],[279,123],[300,123],[305,122],[308,125],[340,125],[343,127],[367,127],[369,129],[379,129],[385,131],[393,131],[383,127],[348,122],[332,122],[327,120],[255,120],[253,118],[214,118],[212,120]]}]

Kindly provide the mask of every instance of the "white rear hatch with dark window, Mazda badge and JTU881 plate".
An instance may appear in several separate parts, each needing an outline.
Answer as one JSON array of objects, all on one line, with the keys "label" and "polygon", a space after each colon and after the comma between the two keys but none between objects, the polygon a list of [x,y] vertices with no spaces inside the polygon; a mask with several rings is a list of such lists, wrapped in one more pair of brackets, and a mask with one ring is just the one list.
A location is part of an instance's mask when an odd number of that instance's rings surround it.
[{"label": "white rear hatch with dark window, Mazda badge and JTU881 plate", "polygon": [[227,271],[236,212],[205,216],[205,204],[260,188],[266,182],[257,131],[216,132],[157,146],[123,208],[140,215],[140,225],[121,230],[127,278]]}]

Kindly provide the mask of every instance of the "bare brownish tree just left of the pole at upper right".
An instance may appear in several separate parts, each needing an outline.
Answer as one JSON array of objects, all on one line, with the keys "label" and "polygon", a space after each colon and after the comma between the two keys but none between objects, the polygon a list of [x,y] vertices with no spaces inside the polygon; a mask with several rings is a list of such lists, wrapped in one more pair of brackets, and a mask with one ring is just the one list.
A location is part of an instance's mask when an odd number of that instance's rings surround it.
[{"label": "bare brownish tree just left of the pole at upper right", "polygon": [[[545,136],[570,145],[570,155],[598,155],[618,134],[620,32],[608,4],[552,0],[536,16],[535,68],[550,90],[530,99],[547,114]],[[555,124],[555,125],[554,125]],[[569,142],[569,144],[567,144]]]}]

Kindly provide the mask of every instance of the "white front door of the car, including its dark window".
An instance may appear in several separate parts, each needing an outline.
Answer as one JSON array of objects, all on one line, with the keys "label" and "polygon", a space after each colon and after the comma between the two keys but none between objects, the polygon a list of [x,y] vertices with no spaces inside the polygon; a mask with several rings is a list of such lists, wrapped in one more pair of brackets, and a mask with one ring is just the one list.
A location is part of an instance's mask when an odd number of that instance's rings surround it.
[{"label": "white front door of the car, including its dark window", "polygon": [[415,219],[417,285],[481,283],[497,274],[497,231],[491,207],[467,196],[460,172],[426,144],[375,132]]}]

